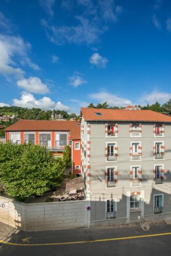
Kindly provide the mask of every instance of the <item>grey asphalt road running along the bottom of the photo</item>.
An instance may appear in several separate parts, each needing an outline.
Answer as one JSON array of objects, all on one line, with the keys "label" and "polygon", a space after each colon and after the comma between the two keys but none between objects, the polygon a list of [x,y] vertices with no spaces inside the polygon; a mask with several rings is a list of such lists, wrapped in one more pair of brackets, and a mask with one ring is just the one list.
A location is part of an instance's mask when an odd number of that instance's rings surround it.
[{"label": "grey asphalt road running along the bottom of the photo", "polygon": [[[165,234],[169,232],[170,234]],[[151,234],[157,234],[157,236],[149,237]],[[158,236],[158,234],[160,235]],[[114,240],[116,238],[117,240]],[[110,239],[113,240],[110,241]],[[144,231],[140,224],[134,227],[103,229],[84,228],[41,232],[19,231],[18,233],[13,233],[6,241],[12,244],[2,244],[0,255],[170,256],[171,225],[152,225],[148,231]],[[34,246],[32,246],[33,244]]]}]

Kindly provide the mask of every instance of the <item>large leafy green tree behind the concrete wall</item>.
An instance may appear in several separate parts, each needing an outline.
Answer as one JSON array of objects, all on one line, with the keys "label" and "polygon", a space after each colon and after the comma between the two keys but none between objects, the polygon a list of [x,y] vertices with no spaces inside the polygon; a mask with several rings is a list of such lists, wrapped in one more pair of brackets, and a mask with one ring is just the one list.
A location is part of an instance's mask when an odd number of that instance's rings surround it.
[{"label": "large leafy green tree behind the concrete wall", "polygon": [[65,166],[39,145],[0,143],[0,179],[16,200],[42,196],[60,185]]}]

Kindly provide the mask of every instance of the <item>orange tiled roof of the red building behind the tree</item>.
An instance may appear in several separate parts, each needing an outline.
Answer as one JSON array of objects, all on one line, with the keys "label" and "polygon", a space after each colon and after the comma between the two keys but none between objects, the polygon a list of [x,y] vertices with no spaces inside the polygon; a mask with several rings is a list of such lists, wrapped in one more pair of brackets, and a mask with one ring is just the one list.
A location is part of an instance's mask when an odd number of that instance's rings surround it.
[{"label": "orange tiled roof of the red building behind the tree", "polygon": [[13,123],[5,131],[70,131],[71,139],[80,139],[78,121],[22,120]]}]

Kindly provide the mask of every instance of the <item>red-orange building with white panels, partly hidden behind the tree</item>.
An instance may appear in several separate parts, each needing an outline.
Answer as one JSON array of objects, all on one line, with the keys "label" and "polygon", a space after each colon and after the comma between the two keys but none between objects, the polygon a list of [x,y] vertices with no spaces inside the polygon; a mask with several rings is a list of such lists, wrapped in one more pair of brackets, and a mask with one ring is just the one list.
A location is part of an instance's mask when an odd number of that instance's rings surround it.
[{"label": "red-orange building with white panels, partly hidden behind the tree", "polygon": [[45,145],[56,157],[62,157],[65,146],[71,146],[72,173],[80,169],[80,126],[78,121],[19,120],[6,131],[6,141]]}]

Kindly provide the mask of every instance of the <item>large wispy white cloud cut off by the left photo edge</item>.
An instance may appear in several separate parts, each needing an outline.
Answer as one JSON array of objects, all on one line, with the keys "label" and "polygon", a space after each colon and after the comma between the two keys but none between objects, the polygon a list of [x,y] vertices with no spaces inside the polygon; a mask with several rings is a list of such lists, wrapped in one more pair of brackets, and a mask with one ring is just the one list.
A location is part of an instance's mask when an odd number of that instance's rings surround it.
[{"label": "large wispy white cloud cut off by the left photo edge", "polygon": [[[0,74],[7,76],[9,74],[15,74],[16,76],[22,76],[24,71],[18,67],[15,63],[23,62],[28,66],[39,69],[38,66],[31,62],[28,57],[28,50],[31,45],[28,42],[24,42],[22,37],[0,35]],[[15,59],[15,60],[14,60]]]}]

